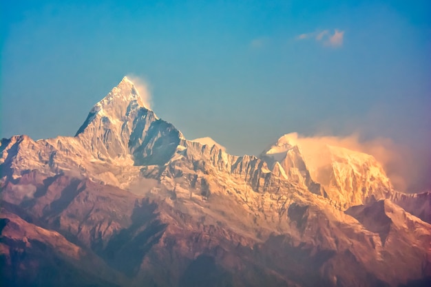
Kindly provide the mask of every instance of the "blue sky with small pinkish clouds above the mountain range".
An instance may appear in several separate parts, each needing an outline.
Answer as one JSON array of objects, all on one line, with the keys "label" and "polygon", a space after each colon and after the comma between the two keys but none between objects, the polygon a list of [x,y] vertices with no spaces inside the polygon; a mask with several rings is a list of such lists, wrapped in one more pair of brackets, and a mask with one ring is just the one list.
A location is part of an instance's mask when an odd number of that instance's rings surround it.
[{"label": "blue sky with small pinkish clouds above the mountain range", "polygon": [[126,74],[186,138],[431,146],[431,1],[1,1],[0,137],[73,136]]}]

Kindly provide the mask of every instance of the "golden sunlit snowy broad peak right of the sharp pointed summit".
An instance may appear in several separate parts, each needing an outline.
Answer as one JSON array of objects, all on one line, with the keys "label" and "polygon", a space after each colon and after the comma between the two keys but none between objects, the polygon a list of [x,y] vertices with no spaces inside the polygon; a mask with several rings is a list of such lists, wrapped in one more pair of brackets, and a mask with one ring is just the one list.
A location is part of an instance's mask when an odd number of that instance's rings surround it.
[{"label": "golden sunlit snowy broad peak right of the sharp pointed summit", "polygon": [[307,159],[296,133],[282,136],[261,157],[286,174],[286,178],[304,182],[310,191],[324,194],[341,209],[363,204],[370,198],[388,198],[392,191],[383,167],[374,157],[322,145],[318,159]]}]

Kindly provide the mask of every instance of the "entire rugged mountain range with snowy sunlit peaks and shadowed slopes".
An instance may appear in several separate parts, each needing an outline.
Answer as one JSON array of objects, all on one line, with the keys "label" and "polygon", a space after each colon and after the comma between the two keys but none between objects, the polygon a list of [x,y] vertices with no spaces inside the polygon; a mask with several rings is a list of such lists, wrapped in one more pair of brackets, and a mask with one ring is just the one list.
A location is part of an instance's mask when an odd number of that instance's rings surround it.
[{"label": "entire rugged mountain range with snowy sunlit peaks and shadowed slopes", "polygon": [[[428,286],[431,194],[364,153],[187,140],[123,78],[74,137],[0,142],[10,286]],[[78,276],[76,276],[78,275]],[[22,279],[28,278],[28,279]]]}]

